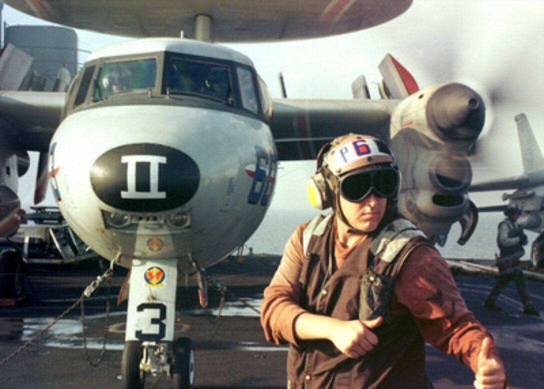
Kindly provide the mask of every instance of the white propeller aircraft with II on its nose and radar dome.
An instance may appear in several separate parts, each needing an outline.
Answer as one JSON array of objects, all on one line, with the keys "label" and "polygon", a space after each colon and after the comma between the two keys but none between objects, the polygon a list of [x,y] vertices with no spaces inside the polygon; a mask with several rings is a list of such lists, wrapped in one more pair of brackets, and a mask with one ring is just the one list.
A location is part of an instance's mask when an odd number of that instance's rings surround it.
[{"label": "white propeller aircraft with II on its nose and radar dome", "polygon": [[196,274],[205,292],[203,269],[261,223],[279,159],[314,158],[347,132],[374,134],[398,157],[407,218],[437,240],[457,221],[466,227],[462,239],[473,228],[468,151],[485,117],[477,92],[458,83],[419,90],[387,55],[381,100],[369,99],[361,79],[354,100],[273,100],[248,57],[203,42],[349,32],[403,13],[411,0],[4,2],[72,27],[134,36],[183,29],[195,38],[102,48],[66,94],[0,92],[0,137],[13,140],[3,166],[14,169],[18,150],[41,151],[39,176],[48,172],[73,231],[98,255],[131,268],[123,387],[161,372],[191,387],[191,342],[174,339],[178,275]]}]

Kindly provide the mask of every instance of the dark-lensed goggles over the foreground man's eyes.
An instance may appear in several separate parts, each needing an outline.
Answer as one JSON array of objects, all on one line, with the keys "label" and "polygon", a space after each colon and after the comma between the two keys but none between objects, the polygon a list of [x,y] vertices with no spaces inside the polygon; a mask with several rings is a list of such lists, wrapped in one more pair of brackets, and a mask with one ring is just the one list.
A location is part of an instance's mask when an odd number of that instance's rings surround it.
[{"label": "dark-lensed goggles over the foreground man's eyes", "polygon": [[390,167],[356,171],[339,180],[340,194],[351,202],[363,201],[370,193],[390,199],[397,195],[399,173]]}]

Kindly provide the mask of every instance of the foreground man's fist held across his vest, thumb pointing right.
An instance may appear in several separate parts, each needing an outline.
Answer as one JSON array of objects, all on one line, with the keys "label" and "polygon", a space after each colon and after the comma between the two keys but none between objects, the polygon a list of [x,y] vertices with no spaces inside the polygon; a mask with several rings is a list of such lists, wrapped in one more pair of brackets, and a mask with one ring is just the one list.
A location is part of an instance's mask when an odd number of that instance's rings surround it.
[{"label": "foreground man's fist held across his vest, thumb pointing right", "polygon": [[370,329],[377,328],[383,321],[384,319],[379,317],[364,322],[361,320],[339,322],[330,340],[342,354],[350,358],[358,358],[372,351],[378,344],[378,336]]}]

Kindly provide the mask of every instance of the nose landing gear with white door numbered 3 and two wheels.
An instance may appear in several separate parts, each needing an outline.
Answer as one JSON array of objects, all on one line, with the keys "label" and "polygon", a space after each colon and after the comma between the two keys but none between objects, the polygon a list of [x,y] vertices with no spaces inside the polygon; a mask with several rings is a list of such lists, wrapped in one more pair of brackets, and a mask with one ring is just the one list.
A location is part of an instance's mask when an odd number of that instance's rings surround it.
[{"label": "nose landing gear with white door numbered 3 and two wheels", "polygon": [[163,373],[176,388],[193,387],[192,343],[174,341],[177,261],[133,259],[129,282],[122,387],[143,388],[146,375]]}]

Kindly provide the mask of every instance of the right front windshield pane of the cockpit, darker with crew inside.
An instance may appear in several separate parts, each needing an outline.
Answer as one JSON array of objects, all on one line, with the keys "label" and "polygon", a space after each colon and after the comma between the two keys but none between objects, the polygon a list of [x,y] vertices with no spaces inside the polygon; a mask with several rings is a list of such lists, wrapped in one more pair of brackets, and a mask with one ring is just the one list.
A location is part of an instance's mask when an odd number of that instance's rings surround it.
[{"label": "right front windshield pane of the cockpit, darker with crew inside", "polygon": [[191,94],[232,103],[231,76],[227,65],[172,58],[168,69],[171,94]]}]

